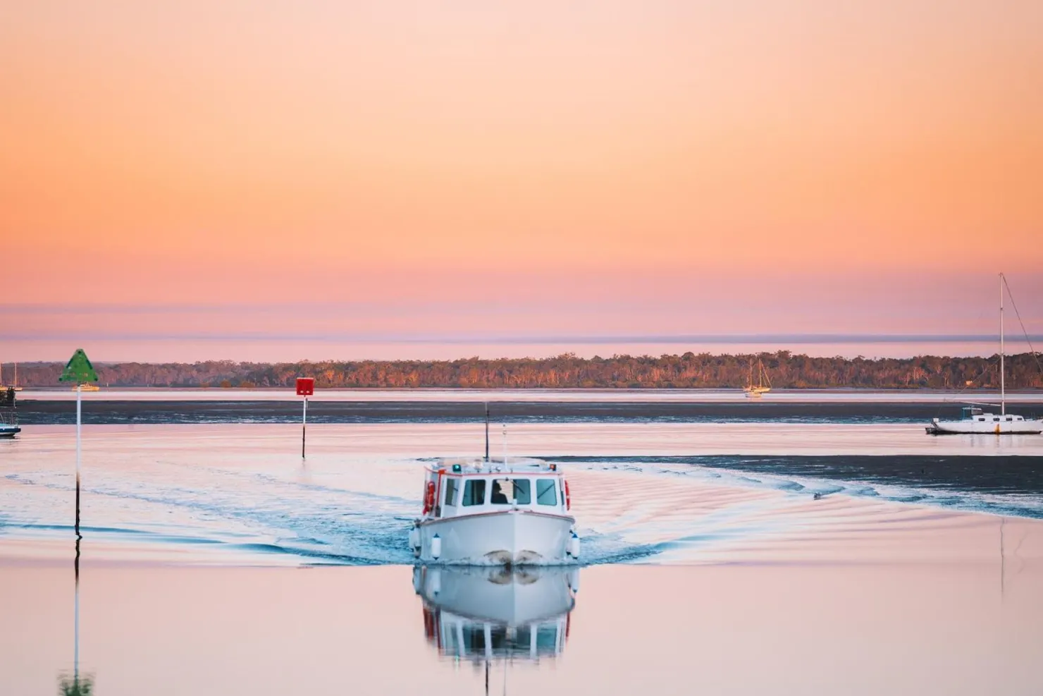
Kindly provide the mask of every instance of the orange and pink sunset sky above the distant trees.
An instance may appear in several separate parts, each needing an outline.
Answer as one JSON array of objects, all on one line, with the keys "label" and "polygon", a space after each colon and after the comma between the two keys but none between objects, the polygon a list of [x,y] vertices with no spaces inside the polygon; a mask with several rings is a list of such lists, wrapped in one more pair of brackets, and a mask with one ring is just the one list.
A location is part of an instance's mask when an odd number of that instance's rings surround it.
[{"label": "orange and pink sunset sky above the distant trees", "polygon": [[1038,0],[2,1],[0,359],[902,355],[995,333],[999,271],[1043,333],[1041,37]]}]

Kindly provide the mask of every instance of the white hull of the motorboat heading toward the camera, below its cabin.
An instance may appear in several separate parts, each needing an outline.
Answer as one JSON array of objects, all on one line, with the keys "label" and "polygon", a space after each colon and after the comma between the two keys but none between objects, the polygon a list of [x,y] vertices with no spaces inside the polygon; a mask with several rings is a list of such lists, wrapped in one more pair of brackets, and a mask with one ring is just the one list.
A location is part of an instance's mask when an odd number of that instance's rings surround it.
[{"label": "white hull of the motorboat heading toward the camera, below its cabin", "polygon": [[[464,514],[419,524],[419,559],[465,566],[558,566],[566,553],[576,520],[526,509]],[[432,539],[440,539],[438,557]]]}]

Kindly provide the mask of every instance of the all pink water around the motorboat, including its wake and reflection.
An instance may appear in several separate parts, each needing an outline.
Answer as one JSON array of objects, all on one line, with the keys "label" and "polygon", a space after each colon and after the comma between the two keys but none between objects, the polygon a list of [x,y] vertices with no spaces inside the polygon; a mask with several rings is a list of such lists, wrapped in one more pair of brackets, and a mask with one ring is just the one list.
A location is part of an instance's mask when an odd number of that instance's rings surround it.
[{"label": "all pink water around the motorboat, including its wake and reflection", "polygon": [[585,561],[510,575],[405,548],[475,424],[84,433],[78,593],[72,429],[0,442],[0,693],[1038,693],[1043,437],[510,425]]}]

